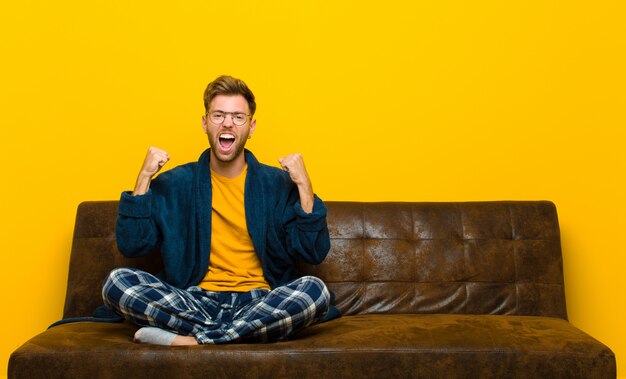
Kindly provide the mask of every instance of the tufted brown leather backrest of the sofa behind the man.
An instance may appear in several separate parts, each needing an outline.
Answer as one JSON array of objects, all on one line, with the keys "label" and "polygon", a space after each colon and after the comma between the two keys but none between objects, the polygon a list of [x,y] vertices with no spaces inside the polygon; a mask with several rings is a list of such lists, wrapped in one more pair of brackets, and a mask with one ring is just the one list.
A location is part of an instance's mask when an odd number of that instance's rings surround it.
[{"label": "tufted brown leather backrest of the sofa behind the man", "polygon": [[[345,315],[464,313],[567,319],[559,224],[547,201],[327,202],[331,250],[300,271],[323,279]],[[92,315],[116,267],[156,273],[159,254],[124,258],[117,201],[76,216],[64,317]]]}]

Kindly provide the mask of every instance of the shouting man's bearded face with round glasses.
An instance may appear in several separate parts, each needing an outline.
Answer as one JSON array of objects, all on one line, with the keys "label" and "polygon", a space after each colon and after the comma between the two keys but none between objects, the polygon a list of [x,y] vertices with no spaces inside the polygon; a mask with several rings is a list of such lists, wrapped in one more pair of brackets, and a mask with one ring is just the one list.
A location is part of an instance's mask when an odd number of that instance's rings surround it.
[{"label": "shouting man's bearded face with round glasses", "polygon": [[[235,160],[243,152],[256,120],[250,116],[248,102],[241,95],[218,95],[209,104],[208,114],[202,117],[202,128],[209,137],[213,157],[220,162]],[[220,122],[220,120],[223,121]],[[237,125],[245,119],[242,125]]]}]

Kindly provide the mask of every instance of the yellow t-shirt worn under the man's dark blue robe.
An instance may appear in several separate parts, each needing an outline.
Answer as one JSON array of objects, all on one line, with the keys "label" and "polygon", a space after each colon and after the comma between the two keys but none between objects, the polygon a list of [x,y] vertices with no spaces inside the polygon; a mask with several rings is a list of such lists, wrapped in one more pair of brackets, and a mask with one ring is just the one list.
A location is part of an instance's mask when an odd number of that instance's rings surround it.
[{"label": "yellow t-shirt worn under the man's dark blue robe", "polygon": [[213,209],[209,271],[200,283],[208,291],[270,289],[246,224],[244,187],[248,166],[236,178],[211,171]]}]

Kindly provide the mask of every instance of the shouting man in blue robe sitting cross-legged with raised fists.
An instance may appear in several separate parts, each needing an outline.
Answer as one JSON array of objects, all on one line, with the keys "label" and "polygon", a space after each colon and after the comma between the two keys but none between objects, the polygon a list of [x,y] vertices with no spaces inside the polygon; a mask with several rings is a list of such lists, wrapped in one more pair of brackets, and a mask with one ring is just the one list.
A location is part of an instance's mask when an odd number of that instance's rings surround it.
[{"label": "shouting man in blue robe sitting cross-legged with raised fists", "polygon": [[151,147],[120,199],[119,250],[158,249],[163,272],[113,270],[104,303],[142,326],[136,341],[164,345],[276,341],[336,315],[325,284],[294,265],[319,264],[330,248],[326,207],[302,156],[279,159],[280,170],[244,149],[256,103],[243,81],[217,78],[204,106],[210,148],[153,180],[169,155]]}]

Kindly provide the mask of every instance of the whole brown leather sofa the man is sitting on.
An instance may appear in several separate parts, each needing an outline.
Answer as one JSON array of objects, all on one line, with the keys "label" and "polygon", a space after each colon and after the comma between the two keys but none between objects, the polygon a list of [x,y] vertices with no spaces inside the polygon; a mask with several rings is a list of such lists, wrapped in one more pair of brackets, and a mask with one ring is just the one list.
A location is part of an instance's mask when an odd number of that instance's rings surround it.
[{"label": "whole brown leather sofa the man is sitting on", "polygon": [[[272,344],[133,343],[126,322],[74,322],[10,358],[17,378],[615,378],[613,352],[567,321],[550,202],[327,203],[321,277],[343,317]],[[90,316],[114,267],[117,202],[79,206],[64,317]],[[575,278],[572,278],[575,280]],[[590,310],[590,312],[593,310]]]}]

